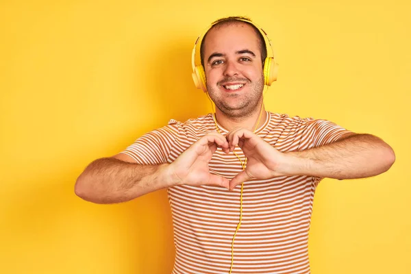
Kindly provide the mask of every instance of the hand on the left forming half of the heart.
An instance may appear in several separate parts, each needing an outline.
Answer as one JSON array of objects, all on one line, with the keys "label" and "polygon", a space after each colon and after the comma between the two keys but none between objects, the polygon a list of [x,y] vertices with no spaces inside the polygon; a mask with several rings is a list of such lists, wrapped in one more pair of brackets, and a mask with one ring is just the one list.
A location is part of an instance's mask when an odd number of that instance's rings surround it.
[{"label": "hand on the left forming half of the heart", "polygon": [[172,185],[190,186],[216,185],[229,188],[229,179],[210,173],[208,163],[217,147],[229,153],[227,139],[216,132],[210,132],[192,144],[169,165]]}]

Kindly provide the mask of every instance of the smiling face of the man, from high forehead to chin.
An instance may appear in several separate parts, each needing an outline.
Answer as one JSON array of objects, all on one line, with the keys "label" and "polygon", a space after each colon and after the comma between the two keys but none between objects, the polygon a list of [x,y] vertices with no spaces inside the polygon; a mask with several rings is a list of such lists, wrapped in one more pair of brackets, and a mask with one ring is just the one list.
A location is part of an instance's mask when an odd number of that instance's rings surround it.
[{"label": "smiling face of the man, from high forehead to chin", "polygon": [[233,118],[259,111],[264,75],[254,29],[245,23],[216,27],[203,47],[207,90],[217,108]]}]

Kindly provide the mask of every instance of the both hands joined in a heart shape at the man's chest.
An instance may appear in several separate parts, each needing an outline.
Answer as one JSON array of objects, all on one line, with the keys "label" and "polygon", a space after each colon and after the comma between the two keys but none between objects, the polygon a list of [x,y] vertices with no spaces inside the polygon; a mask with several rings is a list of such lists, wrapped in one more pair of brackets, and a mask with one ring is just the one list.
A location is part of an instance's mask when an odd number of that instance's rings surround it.
[{"label": "both hands joined in a heart shape at the man's chest", "polygon": [[[211,174],[208,163],[216,149],[220,148],[225,153],[235,153],[237,145],[242,149],[247,161],[246,165],[237,155],[243,170],[231,180]],[[237,127],[227,136],[217,132],[206,134],[179,155],[171,165],[177,184],[218,185],[232,190],[249,179],[269,179],[286,175],[282,171],[282,166],[286,166],[286,160],[288,157],[285,153],[277,151],[249,129]]]}]

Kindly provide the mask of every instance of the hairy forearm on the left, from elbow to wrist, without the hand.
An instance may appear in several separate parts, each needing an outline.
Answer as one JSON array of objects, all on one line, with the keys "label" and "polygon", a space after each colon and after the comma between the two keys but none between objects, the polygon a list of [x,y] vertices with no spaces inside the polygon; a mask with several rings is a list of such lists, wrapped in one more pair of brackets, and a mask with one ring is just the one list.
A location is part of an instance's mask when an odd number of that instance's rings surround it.
[{"label": "hairy forearm on the left, from elbow to wrist, without the hand", "polygon": [[101,158],[77,178],[75,193],[93,203],[119,203],[172,185],[168,164],[140,165]]}]

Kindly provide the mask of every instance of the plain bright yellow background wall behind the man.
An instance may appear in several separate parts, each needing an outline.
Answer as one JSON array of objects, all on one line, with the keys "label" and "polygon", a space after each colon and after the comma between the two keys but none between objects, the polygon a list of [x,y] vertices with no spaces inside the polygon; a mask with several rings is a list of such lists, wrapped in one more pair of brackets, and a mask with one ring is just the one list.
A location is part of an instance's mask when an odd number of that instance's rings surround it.
[{"label": "plain bright yellow background wall behind the man", "polygon": [[250,16],[273,40],[273,112],[375,134],[377,177],[321,182],[313,274],[411,273],[410,1],[1,1],[0,273],[171,273],[165,190],[128,203],[75,197],[85,166],[210,111],[190,76],[209,23]]}]

